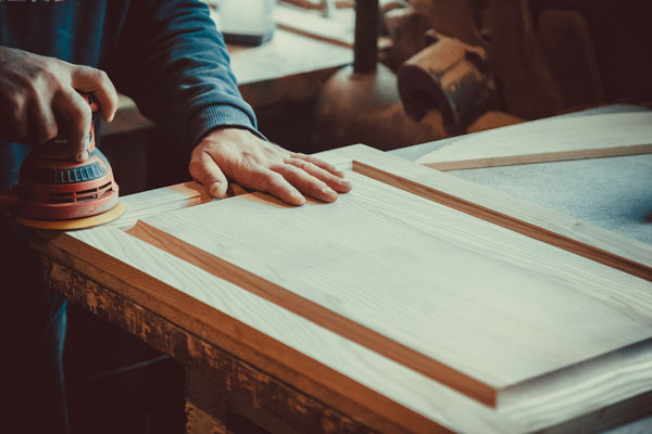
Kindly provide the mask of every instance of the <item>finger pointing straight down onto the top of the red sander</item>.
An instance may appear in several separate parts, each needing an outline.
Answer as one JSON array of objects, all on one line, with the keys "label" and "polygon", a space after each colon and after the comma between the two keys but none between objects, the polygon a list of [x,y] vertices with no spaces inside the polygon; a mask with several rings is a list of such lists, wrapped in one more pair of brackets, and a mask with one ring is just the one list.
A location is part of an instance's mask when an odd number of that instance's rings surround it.
[{"label": "finger pointing straight down onto the top of the red sander", "polygon": [[61,118],[60,131],[65,136],[72,155],[78,162],[88,158],[92,113],[86,100],[73,89],[62,89],[54,97],[54,106]]}]

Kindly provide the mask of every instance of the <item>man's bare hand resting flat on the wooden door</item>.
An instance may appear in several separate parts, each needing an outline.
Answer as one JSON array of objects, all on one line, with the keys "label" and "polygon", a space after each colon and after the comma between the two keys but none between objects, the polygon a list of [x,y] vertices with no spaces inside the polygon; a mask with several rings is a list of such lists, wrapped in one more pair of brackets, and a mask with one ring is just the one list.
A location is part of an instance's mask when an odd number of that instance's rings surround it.
[{"label": "man's bare hand resting flat on the wooden door", "polygon": [[246,129],[211,131],[192,151],[190,175],[212,197],[226,196],[228,181],[269,193],[290,205],[303,205],[301,193],[334,202],[351,183],[333,165],[292,153]]}]

